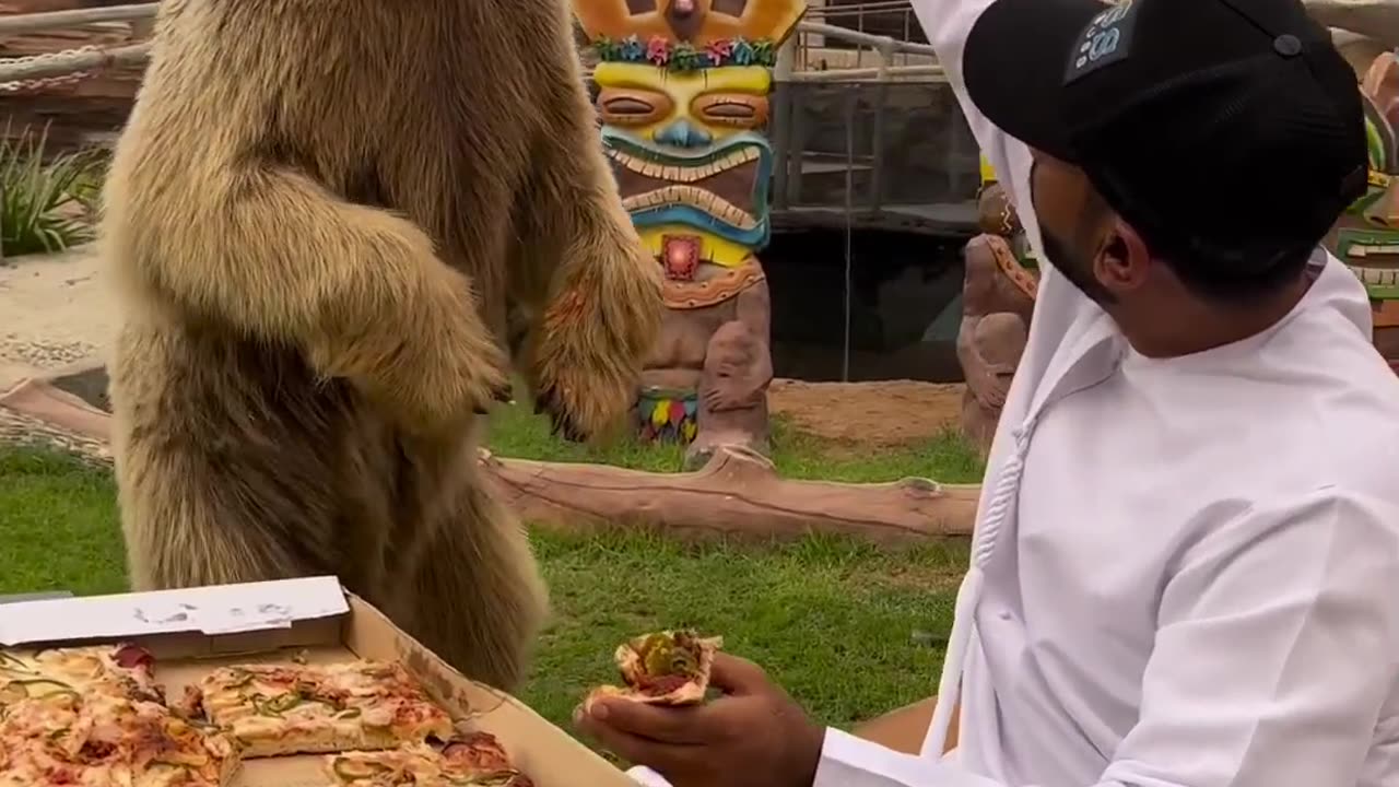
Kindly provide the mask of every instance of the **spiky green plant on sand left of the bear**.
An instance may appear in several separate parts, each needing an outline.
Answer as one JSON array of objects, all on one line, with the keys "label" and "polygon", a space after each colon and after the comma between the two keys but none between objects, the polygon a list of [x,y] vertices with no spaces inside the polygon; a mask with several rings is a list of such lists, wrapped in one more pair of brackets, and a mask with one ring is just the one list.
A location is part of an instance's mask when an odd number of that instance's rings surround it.
[{"label": "spiky green plant on sand left of the bear", "polygon": [[0,139],[0,249],[53,253],[92,239],[88,216],[102,183],[95,151],[45,158],[48,129]]}]

